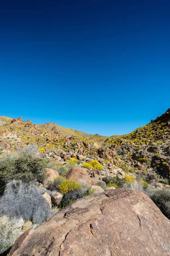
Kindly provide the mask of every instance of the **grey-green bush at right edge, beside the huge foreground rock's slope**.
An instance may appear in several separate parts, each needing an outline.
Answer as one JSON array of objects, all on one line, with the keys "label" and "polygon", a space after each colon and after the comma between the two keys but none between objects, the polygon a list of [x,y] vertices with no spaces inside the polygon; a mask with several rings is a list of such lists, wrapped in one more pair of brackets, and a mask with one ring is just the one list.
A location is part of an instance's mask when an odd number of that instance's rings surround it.
[{"label": "grey-green bush at right edge, beside the huge foreground rock's slope", "polygon": [[170,189],[148,189],[147,195],[159,207],[161,212],[170,219]]}]

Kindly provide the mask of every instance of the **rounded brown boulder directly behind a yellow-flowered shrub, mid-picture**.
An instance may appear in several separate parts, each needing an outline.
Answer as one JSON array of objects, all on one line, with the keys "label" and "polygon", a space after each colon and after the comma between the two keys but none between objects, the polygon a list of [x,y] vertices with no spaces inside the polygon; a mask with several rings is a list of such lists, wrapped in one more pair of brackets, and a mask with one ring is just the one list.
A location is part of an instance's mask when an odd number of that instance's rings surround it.
[{"label": "rounded brown boulder directly behind a yellow-flowered shrub, mid-picture", "polygon": [[87,183],[88,186],[91,186],[91,178],[82,168],[72,168],[66,175],[67,179],[77,180],[81,184]]}]

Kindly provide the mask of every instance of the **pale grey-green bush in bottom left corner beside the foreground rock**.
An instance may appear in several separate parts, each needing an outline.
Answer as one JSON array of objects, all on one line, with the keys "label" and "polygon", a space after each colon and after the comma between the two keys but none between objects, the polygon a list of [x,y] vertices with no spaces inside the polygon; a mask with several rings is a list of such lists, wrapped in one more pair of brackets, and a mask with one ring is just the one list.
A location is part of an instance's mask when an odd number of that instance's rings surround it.
[{"label": "pale grey-green bush in bottom left corner beside the foreground rock", "polygon": [[[5,218],[5,216],[2,218]],[[18,236],[19,233],[14,228],[13,221],[9,219],[0,221],[0,255],[1,253],[6,255],[7,250],[14,244]]]}]

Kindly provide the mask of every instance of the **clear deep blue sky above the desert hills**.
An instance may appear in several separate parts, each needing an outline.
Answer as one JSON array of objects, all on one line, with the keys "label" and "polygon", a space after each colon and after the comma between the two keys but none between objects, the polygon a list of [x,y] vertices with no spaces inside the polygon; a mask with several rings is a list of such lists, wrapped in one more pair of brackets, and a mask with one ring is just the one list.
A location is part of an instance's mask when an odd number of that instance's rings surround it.
[{"label": "clear deep blue sky above the desert hills", "polygon": [[168,108],[169,0],[0,0],[0,116],[110,136]]}]

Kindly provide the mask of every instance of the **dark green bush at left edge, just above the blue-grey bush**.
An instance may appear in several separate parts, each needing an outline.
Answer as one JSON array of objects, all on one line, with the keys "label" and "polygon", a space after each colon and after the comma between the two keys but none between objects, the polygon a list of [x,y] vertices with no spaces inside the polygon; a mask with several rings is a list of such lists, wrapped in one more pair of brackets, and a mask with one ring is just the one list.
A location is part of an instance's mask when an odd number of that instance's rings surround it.
[{"label": "dark green bush at left edge, just above the blue-grey bush", "polygon": [[20,154],[14,157],[1,159],[0,163],[0,194],[11,180],[23,180],[24,182],[42,182],[45,179],[45,166],[38,157],[30,154]]}]

